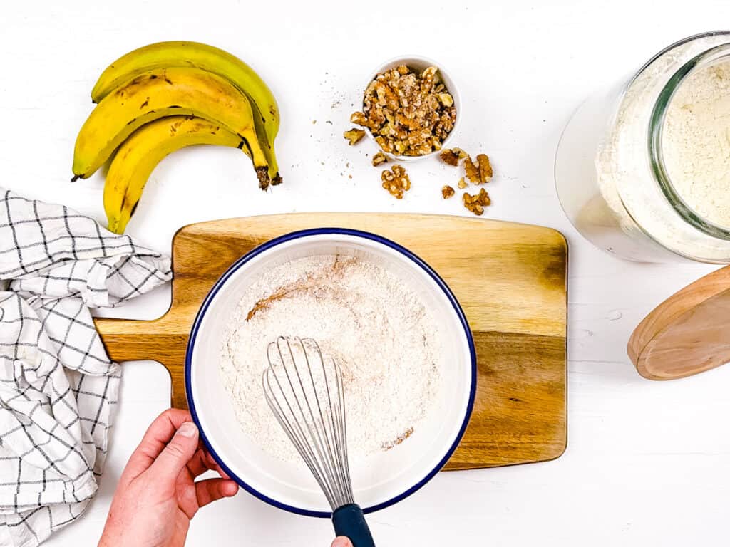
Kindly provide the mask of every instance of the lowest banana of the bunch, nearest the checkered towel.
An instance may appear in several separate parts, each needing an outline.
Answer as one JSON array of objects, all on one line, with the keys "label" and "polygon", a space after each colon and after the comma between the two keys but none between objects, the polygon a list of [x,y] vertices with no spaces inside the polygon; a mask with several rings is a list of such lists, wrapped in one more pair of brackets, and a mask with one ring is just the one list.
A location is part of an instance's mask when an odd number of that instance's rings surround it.
[{"label": "lowest banana of the bunch, nearest the checkered towel", "polygon": [[[124,233],[147,179],[166,155],[193,144],[242,147],[244,142],[222,125],[192,116],[172,116],[142,125],[119,147],[104,184],[109,229]],[[245,147],[243,148],[246,151]]]}]

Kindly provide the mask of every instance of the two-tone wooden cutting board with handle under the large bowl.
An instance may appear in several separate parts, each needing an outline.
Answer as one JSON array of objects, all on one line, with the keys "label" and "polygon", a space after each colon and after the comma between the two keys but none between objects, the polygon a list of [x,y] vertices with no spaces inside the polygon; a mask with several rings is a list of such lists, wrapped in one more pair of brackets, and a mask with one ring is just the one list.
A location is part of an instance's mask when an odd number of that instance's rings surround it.
[{"label": "two-tone wooden cutting board with handle under the large bowl", "polygon": [[567,245],[537,226],[416,214],[302,213],[201,222],[172,242],[172,306],[153,321],[96,319],[116,361],[150,359],[185,408],[188,334],[201,301],[241,255],[304,228],[356,228],[407,247],[441,276],[474,334],[479,378],[471,422],[446,469],[539,462],[566,447]]}]

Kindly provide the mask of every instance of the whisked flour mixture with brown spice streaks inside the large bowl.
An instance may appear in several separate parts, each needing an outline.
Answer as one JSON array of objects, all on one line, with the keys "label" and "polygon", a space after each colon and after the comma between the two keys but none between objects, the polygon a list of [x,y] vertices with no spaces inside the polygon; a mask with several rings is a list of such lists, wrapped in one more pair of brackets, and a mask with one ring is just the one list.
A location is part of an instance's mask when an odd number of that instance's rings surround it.
[{"label": "whisked flour mixture with brown spice streaks inside the large bowl", "polygon": [[261,387],[266,347],[278,335],[314,338],[339,362],[354,459],[418,435],[418,424],[439,398],[442,342],[415,291],[369,260],[292,260],[247,287],[229,320],[220,359],[240,427],[279,459],[299,461]]}]

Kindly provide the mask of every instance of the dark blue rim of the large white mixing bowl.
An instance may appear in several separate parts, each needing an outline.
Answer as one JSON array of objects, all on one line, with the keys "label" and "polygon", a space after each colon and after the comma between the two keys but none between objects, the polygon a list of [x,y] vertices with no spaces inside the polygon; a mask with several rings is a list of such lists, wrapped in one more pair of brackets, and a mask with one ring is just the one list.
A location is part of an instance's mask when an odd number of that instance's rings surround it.
[{"label": "dark blue rim of the large white mixing bowl", "polygon": [[429,471],[429,473],[426,474],[425,477],[420,479],[418,483],[416,483],[414,486],[411,486],[409,489],[407,489],[402,494],[398,494],[395,497],[392,497],[390,500],[386,500],[382,503],[378,503],[377,505],[372,505],[367,508],[363,508],[364,513],[373,513],[374,511],[380,511],[380,509],[385,509],[386,507],[390,507],[391,505],[398,503],[401,500],[404,500],[405,498],[409,497],[411,494],[414,494],[419,489],[423,488],[423,486],[428,483],[431,478],[434,478],[436,473],[441,470],[441,468],[446,464],[446,462],[449,460],[451,455],[456,450],[456,447],[461,442],[461,438],[464,437],[464,431],[466,431],[466,426],[469,424],[469,418],[472,416],[472,410],[474,408],[474,400],[477,392],[477,352],[475,350],[474,346],[474,338],[472,337],[472,331],[469,329],[469,323],[466,322],[466,316],[464,315],[464,310],[461,309],[461,305],[458,303],[458,300],[456,300],[456,297],[453,295],[453,292],[451,292],[450,288],[446,284],[446,282],[441,279],[439,274],[437,274],[431,266],[429,266],[424,260],[422,260],[418,255],[415,255],[415,253],[409,251],[405,247],[402,247],[401,245],[397,244],[394,241],[391,241],[388,238],[384,238],[382,236],[377,236],[374,233],[364,232],[362,230],[352,230],[350,228],[310,228],[308,230],[299,230],[296,232],[287,233],[284,236],[280,236],[274,239],[271,239],[269,241],[266,241],[266,243],[259,245],[255,249],[250,250],[245,255],[240,257],[236,262],[234,262],[228,270],[226,270],[226,273],[220,276],[220,279],[218,279],[217,282],[213,285],[210,292],[208,292],[208,295],[205,297],[205,300],[203,300],[203,303],[200,306],[200,309],[198,311],[198,314],[196,315],[195,321],[193,322],[193,327],[191,329],[190,338],[188,338],[188,347],[185,352],[185,395],[188,398],[188,408],[190,409],[190,414],[193,417],[193,422],[198,426],[199,432],[200,432],[200,438],[202,439],[203,443],[207,447],[208,451],[210,451],[210,455],[215,459],[215,461],[220,465],[220,468],[223,469],[223,471],[226,472],[226,474],[232,478],[234,481],[236,481],[239,486],[241,486],[243,489],[245,489],[250,494],[253,494],[255,497],[258,497],[259,500],[262,500],[266,503],[269,503],[269,505],[274,505],[274,507],[283,509],[285,511],[289,511],[291,513],[296,513],[299,515],[304,516],[316,516],[319,518],[325,518],[328,519],[332,516],[331,512],[328,511],[310,511],[308,509],[302,509],[299,507],[294,507],[293,505],[288,505],[286,503],[281,503],[277,500],[272,499],[269,496],[266,496],[266,494],[263,494],[262,492],[258,492],[255,488],[247,484],[245,481],[242,480],[239,476],[237,476],[230,468],[228,468],[228,465],[226,465],[226,462],[223,462],[223,459],[221,459],[218,456],[218,453],[213,448],[212,444],[208,440],[207,436],[205,435],[205,432],[203,428],[201,427],[200,420],[198,418],[198,413],[196,411],[195,407],[195,401],[193,400],[193,394],[191,391],[191,368],[192,368],[192,360],[193,360],[193,348],[195,347],[195,340],[198,335],[198,331],[200,330],[201,323],[203,321],[203,318],[205,317],[205,312],[207,311],[208,307],[210,306],[210,303],[212,302],[213,298],[215,298],[215,295],[218,294],[218,291],[221,287],[223,287],[223,284],[228,281],[228,278],[231,277],[239,268],[242,267],[245,263],[247,263],[249,260],[251,260],[253,257],[256,257],[258,255],[261,255],[262,252],[265,252],[268,249],[272,249],[273,247],[277,247],[277,245],[283,244],[287,241],[293,241],[294,239],[304,238],[307,236],[320,236],[320,235],[342,235],[342,236],[355,236],[360,238],[369,239],[371,241],[375,241],[377,243],[383,244],[386,247],[390,247],[391,249],[395,249],[396,251],[400,252],[402,255],[410,258],[415,264],[420,266],[424,271],[426,271],[426,274],[429,274],[431,276],[431,279],[436,282],[436,284],[439,286],[439,288],[444,292],[444,294],[447,296],[448,300],[450,301],[451,305],[453,306],[454,311],[456,311],[456,314],[458,315],[459,321],[461,322],[461,326],[464,327],[464,334],[466,335],[466,341],[469,344],[469,354],[472,361],[472,385],[469,389],[469,402],[466,405],[466,414],[464,414],[464,422],[461,424],[461,428],[459,429],[458,435],[456,435],[456,438],[453,441],[453,444],[450,446],[450,448],[446,451],[446,454],[442,459],[439,461],[439,463],[436,465],[434,469]]}]

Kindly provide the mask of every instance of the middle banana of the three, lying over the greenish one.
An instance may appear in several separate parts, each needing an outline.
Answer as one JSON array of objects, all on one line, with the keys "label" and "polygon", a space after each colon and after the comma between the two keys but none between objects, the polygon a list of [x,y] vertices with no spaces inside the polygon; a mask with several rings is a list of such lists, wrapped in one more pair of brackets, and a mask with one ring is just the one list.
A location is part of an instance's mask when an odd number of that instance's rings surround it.
[{"label": "middle banana of the three, lying over the greenish one", "polygon": [[255,133],[250,101],[216,74],[180,67],[145,72],[101,100],[77,136],[74,180],[96,172],[137,128],[172,115],[202,117],[238,135],[266,190],[269,163]]}]

